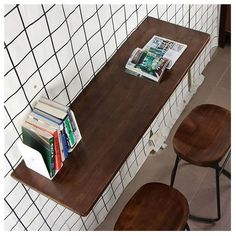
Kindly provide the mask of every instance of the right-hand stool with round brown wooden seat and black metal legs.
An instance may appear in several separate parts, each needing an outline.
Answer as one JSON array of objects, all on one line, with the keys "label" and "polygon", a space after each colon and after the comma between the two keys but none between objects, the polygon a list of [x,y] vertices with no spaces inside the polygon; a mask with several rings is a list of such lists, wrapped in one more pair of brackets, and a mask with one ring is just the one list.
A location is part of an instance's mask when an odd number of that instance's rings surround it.
[{"label": "right-hand stool with round brown wooden seat and black metal legs", "polygon": [[[193,165],[211,167],[216,171],[217,218],[209,219],[190,214],[190,218],[204,222],[220,219],[220,184],[221,173],[230,178],[224,167],[230,157],[230,112],[222,107],[204,104],[194,108],[180,124],[173,138],[177,154],[171,175],[174,184],[176,170],[180,159]],[[227,155],[223,165],[219,162]]]}]

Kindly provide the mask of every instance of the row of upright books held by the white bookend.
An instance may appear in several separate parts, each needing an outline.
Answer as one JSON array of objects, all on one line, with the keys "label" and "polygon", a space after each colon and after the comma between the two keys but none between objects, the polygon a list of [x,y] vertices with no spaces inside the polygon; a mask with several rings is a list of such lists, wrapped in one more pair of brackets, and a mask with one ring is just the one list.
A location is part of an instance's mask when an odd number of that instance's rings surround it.
[{"label": "row of upright books held by the white bookend", "polygon": [[23,143],[41,153],[50,178],[81,140],[73,111],[60,103],[41,98],[22,125]]}]

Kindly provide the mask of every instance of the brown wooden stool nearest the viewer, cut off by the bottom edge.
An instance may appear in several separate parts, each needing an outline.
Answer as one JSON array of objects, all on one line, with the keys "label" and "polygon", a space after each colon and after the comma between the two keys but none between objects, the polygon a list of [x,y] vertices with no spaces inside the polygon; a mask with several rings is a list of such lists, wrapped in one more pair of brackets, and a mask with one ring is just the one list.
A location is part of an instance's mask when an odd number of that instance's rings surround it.
[{"label": "brown wooden stool nearest the viewer, cut off by the bottom edge", "polygon": [[115,230],[189,230],[188,216],[188,202],[178,190],[148,183],[126,204]]}]

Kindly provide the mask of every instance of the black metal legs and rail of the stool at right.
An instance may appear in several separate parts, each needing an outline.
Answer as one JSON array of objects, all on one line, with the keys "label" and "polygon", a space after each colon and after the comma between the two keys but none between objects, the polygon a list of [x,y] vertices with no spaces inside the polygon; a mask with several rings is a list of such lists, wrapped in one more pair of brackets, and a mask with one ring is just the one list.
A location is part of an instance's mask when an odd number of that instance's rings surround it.
[{"label": "black metal legs and rail of the stool at right", "polygon": [[[205,223],[213,223],[213,222],[216,222],[218,221],[220,218],[221,218],[221,208],[220,208],[220,175],[221,174],[224,174],[226,177],[228,177],[229,179],[231,178],[231,174],[224,169],[229,157],[230,157],[230,152],[229,154],[227,155],[224,163],[222,166],[219,166],[219,164],[217,164],[215,167],[212,167],[215,169],[216,171],[216,200],[217,200],[217,218],[205,218],[205,217],[200,217],[200,216],[195,216],[195,215],[192,215],[190,214],[189,215],[189,218],[191,220],[196,220],[196,221],[200,221],[200,222],[205,222]],[[175,165],[174,165],[174,168],[172,170],[172,173],[171,173],[171,183],[170,183],[170,186],[173,187],[174,185],[174,181],[175,181],[175,176],[176,176],[176,171],[177,171],[177,167],[178,167],[178,164],[179,164],[179,161],[180,161],[180,157],[176,157],[176,160],[175,160]]]}]

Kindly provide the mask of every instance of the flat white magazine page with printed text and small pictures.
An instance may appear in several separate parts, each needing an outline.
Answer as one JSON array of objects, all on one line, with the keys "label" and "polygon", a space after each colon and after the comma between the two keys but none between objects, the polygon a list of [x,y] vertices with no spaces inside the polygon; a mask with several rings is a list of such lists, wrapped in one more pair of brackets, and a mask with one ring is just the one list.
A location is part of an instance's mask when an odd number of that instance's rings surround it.
[{"label": "flat white magazine page with printed text and small pictures", "polygon": [[169,60],[169,64],[166,68],[171,69],[186,48],[186,44],[178,43],[176,41],[155,35],[143,49],[155,49],[158,57],[163,57]]}]

